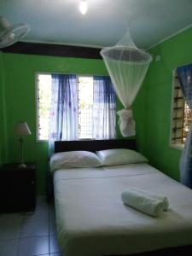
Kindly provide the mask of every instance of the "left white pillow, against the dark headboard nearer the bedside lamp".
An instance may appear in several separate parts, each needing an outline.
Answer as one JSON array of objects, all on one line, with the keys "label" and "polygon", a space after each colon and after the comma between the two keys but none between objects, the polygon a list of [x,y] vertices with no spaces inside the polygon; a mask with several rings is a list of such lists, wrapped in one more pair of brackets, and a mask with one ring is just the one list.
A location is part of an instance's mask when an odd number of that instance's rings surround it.
[{"label": "left white pillow, against the dark headboard nearer the bedside lamp", "polygon": [[97,167],[102,166],[98,156],[89,151],[67,151],[51,156],[50,171],[70,167]]}]

